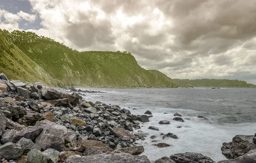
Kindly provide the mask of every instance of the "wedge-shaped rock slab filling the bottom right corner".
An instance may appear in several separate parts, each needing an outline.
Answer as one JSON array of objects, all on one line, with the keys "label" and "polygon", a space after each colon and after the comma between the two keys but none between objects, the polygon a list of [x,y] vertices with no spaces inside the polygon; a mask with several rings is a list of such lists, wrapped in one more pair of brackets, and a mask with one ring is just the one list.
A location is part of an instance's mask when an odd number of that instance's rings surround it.
[{"label": "wedge-shaped rock slab filling the bottom right corner", "polygon": [[223,160],[218,163],[256,163],[256,149],[250,150],[245,155],[231,160]]}]

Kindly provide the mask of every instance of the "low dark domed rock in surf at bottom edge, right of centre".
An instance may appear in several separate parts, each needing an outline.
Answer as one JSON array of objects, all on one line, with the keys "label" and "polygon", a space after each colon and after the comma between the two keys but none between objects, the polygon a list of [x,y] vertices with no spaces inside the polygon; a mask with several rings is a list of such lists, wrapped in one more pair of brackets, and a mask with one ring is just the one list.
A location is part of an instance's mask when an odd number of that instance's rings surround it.
[{"label": "low dark domed rock in surf at bottom edge, right of centre", "polygon": [[177,153],[171,155],[170,158],[175,161],[175,163],[215,163],[210,157],[204,156],[200,153]]}]

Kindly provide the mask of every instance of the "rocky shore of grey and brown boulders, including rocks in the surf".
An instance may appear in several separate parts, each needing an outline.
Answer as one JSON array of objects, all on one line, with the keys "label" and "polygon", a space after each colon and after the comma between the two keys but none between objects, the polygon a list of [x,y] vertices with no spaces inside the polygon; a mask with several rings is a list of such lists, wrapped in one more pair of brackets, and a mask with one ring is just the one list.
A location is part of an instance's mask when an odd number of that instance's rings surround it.
[{"label": "rocky shore of grey and brown boulders, including rocks in the surf", "polygon": [[[144,148],[136,142],[145,140],[148,134],[134,129],[140,129],[140,124],[154,115],[150,111],[133,115],[117,105],[85,101],[81,93],[96,91],[9,81],[1,73],[0,162],[150,163],[146,156],[141,156]],[[175,116],[173,121],[183,122],[182,115]],[[159,124],[168,126],[170,121]],[[159,130],[155,126],[149,129]],[[163,139],[178,138],[173,133],[159,134]],[[256,163],[255,136],[236,135],[232,142],[223,143],[222,154],[229,160],[218,163]],[[161,142],[152,145],[170,146]],[[186,152],[162,157],[155,163],[215,161],[199,153]]]}]

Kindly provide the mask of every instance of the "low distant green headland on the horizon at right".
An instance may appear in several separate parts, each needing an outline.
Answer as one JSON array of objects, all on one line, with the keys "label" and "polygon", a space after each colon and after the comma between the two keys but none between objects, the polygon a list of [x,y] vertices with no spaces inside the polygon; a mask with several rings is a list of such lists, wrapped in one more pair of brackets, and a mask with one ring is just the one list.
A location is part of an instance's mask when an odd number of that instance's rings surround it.
[{"label": "low distant green headland on the horizon at right", "polygon": [[186,84],[192,84],[193,87],[256,87],[245,81],[228,79],[174,79],[174,81],[178,87],[185,87]]}]

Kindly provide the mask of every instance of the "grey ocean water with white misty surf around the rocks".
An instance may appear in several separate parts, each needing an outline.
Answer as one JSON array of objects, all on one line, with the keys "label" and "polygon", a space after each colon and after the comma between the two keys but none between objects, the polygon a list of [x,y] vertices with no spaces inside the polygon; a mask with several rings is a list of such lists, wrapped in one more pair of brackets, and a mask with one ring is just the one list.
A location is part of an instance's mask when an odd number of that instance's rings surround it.
[{"label": "grey ocean water with white misty surf around the rocks", "polygon": [[[235,135],[256,133],[255,88],[80,89],[107,92],[84,93],[83,98],[86,101],[119,105],[135,115],[143,115],[147,110],[152,112],[150,122],[140,125],[140,130],[148,133],[148,137],[145,141],[137,141],[145,148],[142,155],[146,155],[151,161],[183,152],[198,152],[216,162],[225,160],[221,154],[223,142],[232,141]],[[132,110],[133,108],[137,110]],[[163,114],[164,112],[168,114]],[[180,113],[185,122],[173,121],[175,112]],[[208,118],[209,121],[197,118],[198,115]],[[160,125],[158,122],[161,120],[171,121],[171,124]],[[149,126],[156,126],[160,131],[148,129]],[[160,132],[171,132],[177,135],[178,139],[162,139]],[[157,136],[154,139],[157,143],[168,143],[171,146],[154,146],[151,135]]]}]

